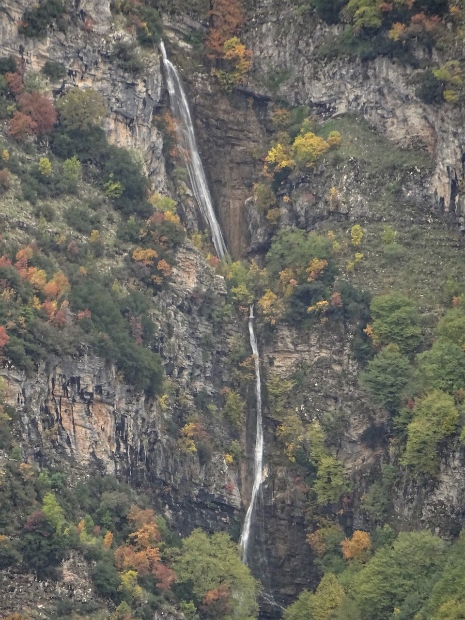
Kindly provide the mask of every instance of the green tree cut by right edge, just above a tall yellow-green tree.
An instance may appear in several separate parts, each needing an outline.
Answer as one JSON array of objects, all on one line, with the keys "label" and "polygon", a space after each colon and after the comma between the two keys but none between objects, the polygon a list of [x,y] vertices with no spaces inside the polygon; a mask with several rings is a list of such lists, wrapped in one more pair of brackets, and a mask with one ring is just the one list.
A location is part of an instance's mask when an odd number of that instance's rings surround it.
[{"label": "green tree cut by right edge, just above a tall yellow-green tree", "polygon": [[465,351],[458,344],[436,340],[429,351],[417,355],[416,379],[420,389],[453,394],[465,386]]}]

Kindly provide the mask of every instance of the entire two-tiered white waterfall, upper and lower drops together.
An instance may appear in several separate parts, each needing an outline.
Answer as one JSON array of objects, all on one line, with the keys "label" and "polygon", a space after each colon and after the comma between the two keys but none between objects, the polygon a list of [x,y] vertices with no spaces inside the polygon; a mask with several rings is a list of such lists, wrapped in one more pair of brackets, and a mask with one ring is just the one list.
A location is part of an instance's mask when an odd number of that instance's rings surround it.
[{"label": "entire two-tiered white waterfall, upper and lower drops together", "polygon": [[[170,97],[170,104],[174,116],[177,119],[176,132],[185,157],[185,163],[189,173],[190,183],[195,198],[198,202],[200,211],[210,226],[213,244],[219,259],[227,258],[228,248],[224,242],[223,233],[216,219],[213,202],[206,183],[205,172],[197,150],[195,133],[193,130],[192,117],[190,115],[187,97],[182,87],[179,74],[174,64],[167,56],[163,42],[160,43],[163,63],[166,69],[166,81]],[[260,358],[257,336],[254,329],[254,306],[250,306],[249,314],[249,335],[250,347],[254,354],[255,364],[255,397],[257,402],[257,436],[255,438],[255,458],[254,458],[254,485],[252,487],[252,497],[247,508],[246,520],[242,529],[239,544],[242,547],[242,562],[247,564],[247,549],[250,539],[250,526],[252,525],[252,515],[255,508],[255,500],[262,484],[262,463],[263,463],[263,425],[262,425],[262,379],[260,378]]]}]

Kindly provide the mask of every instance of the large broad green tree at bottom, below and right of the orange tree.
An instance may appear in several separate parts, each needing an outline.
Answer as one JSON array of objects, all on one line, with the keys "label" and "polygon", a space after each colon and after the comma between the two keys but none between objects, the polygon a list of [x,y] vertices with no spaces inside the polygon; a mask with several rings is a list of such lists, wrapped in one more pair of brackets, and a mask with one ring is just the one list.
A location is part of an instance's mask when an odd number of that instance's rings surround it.
[{"label": "large broad green tree at bottom, below and right of the orange tree", "polygon": [[[446,543],[430,532],[402,532],[356,573],[351,592],[362,620],[388,620],[415,593],[423,600],[445,561]],[[417,601],[418,609],[422,600]],[[412,616],[414,617],[414,613]]]}]

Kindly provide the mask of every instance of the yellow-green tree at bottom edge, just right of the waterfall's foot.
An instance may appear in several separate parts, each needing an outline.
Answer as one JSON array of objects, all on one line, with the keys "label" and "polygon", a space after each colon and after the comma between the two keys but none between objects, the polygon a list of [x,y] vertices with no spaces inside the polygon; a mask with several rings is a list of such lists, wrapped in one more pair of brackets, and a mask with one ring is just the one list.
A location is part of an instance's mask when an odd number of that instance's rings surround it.
[{"label": "yellow-green tree at bottom edge, just right of the waterfall's foot", "polygon": [[315,593],[304,590],[295,603],[285,609],[284,620],[330,620],[344,591],[332,573],[326,573]]}]

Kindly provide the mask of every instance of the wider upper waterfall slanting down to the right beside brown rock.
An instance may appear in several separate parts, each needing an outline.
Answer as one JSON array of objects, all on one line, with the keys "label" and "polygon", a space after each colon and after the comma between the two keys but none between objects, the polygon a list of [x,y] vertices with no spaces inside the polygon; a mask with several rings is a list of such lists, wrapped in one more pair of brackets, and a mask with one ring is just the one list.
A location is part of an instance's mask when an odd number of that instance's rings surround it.
[{"label": "wider upper waterfall slanting down to the right beside brown rock", "polygon": [[223,233],[216,219],[215,210],[211,201],[210,191],[205,178],[200,155],[198,154],[197,141],[193,130],[192,117],[190,115],[187,97],[185,96],[179,73],[167,56],[163,42],[160,42],[160,49],[163,56],[163,64],[166,69],[166,82],[169,92],[171,109],[177,120],[176,133],[181,147],[181,152],[185,160],[189,174],[190,185],[197,200],[201,214],[206,223],[210,226],[213,245],[219,259],[228,256],[228,249],[224,242]]}]

